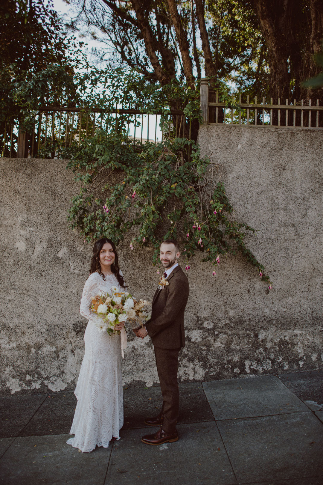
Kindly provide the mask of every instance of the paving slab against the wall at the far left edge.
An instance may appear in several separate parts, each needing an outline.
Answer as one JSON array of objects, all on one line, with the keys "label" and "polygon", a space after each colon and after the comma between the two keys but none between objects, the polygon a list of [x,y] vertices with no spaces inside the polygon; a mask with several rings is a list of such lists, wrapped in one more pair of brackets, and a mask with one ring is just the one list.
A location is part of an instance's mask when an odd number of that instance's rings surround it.
[{"label": "paving slab against the wall at the far left edge", "polygon": [[18,436],[45,399],[44,394],[1,397],[0,438]]}]

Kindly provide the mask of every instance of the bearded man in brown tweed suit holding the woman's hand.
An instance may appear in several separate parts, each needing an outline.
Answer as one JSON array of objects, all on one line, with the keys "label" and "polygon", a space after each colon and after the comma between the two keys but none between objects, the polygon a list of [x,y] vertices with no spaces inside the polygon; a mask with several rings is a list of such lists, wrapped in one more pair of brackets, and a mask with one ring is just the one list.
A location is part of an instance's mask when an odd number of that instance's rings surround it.
[{"label": "bearded man in brown tweed suit holding the woman's hand", "polygon": [[167,239],[160,246],[160,260],[165,269],[164,279],[158,285],[153,298],[152,318],[142,328],[134,329],[141,339],[149,335],[154,344],[156,366],[163,406],[155,418],[146,418],[149,426],[160,429],[153,435],[141,438],[148,445],[178,440],[176,422],[179,410],[177,382],[178,353],[185,345],[184,312],[188,299],[188,280],[178,265],[179,244]]}]

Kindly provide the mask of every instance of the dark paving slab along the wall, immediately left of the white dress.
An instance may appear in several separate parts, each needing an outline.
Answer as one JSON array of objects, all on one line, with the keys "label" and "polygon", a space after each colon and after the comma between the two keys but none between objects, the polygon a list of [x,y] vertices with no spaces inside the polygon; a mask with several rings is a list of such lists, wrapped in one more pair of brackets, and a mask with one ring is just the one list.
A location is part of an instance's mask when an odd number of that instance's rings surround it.
[{"label": "dark paving slab along the wall, immediately left of the white dress", "polygon": [[77,398],[73,392],[50,394],[19,436],[44,436],[69,433]]}]

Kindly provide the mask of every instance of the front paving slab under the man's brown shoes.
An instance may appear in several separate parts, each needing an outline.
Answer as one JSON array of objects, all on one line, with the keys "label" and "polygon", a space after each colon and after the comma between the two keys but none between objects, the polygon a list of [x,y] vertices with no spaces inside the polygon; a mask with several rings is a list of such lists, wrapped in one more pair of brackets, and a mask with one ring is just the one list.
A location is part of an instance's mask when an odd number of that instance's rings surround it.
[{"label": "front paving slab under the man's brown shoes", "polygon": [[152,428],[121,431],[114,442],[105,485],[237,484],[214,421],[177,425],[175,443],[149,446]]}]

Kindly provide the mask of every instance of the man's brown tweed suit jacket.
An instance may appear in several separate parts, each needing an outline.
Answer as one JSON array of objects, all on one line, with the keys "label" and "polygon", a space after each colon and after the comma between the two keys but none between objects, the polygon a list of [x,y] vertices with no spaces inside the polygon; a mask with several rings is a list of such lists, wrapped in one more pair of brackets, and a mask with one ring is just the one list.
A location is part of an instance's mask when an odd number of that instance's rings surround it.
[{"label": "man's brown tweed suit jacket", "polygon": [[154,347],[179,349],[185,345],[184,312],[189,294],[188,279],[180,266],[167,278],[169,285],[154,294],[152,318],[146,323]]}]

